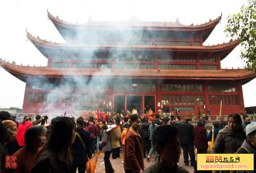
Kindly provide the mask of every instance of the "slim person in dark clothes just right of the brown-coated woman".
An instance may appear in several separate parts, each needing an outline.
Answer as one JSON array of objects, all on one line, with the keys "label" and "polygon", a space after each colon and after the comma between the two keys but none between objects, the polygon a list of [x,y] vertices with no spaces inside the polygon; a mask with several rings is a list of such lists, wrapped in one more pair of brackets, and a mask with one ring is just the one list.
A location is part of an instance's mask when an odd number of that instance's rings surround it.
[{"label": "slim person in dark clothes just right of the brown-coated woman", "polygon": [[147,158],[147,154],[149,154],[149,150],[151,148],[150,140],[149,140],[149,119],[142,118],[142,125],[143,131],[145,133],[145,136],[142,138],[143,140],[143,154],[144,158]]}]

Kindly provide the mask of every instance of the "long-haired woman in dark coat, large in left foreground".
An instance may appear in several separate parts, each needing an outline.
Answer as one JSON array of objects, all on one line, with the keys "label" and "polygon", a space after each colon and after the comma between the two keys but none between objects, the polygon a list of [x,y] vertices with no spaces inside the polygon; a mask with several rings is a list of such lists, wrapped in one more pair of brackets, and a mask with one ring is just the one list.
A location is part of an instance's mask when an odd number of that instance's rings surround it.
[{"label": "long-haired woman in dark coat, large in left foreground", "polygon": [[31,173],[71,173],[71,145],[76,125],[70,117],[54,118],[49,141],[38,154]]}]

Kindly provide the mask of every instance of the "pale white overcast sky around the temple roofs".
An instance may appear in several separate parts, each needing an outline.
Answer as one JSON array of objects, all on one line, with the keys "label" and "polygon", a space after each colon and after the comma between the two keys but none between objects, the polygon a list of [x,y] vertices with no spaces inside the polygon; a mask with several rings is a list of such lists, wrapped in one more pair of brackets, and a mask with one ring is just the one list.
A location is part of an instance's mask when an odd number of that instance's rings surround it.
[{"label": "pale white overcast sky around the temple roofs", "polygon": [[[64,42],[47,17],[47,8],[60,19],[85,23],[92,20],[128,21],[136,15],[141,21],[176,21],[201,24],[222,15],[204,45],[228,42],[224,34],[227,16],[238,12],[246,0],[0,0],[0,57],[30,66],[46,66],[47,59],[27,41],[26,28],[41,39]],[[241,46],[222,62],[223,69],[243,68]],[[0,107],[22,108],[25,83],[0,68]],[[243,86],[245,107],[256,106],[256,79]]]}]

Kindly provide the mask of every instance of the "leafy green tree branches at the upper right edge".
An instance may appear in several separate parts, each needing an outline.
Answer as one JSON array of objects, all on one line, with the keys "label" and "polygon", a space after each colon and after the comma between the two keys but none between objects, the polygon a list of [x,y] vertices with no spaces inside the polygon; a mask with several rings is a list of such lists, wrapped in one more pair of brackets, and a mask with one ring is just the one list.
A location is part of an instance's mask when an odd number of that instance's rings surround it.
[{"label": "leafy green tree branches at the upper right edge", "polygon": [[241,42],[241,58],[245,61],[245,68],[256,71],[256,0],[248,0],[240,12],[228,16],[225,33]]}]

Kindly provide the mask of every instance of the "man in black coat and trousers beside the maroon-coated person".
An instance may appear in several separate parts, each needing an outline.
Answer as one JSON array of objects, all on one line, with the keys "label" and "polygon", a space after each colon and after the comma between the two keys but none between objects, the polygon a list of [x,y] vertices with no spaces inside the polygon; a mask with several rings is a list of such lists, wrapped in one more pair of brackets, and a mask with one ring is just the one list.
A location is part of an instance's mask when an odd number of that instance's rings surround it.
[{"label": "man in black coat and trousers beside the maroon-coated person", "polygon": [[195,162],[194,153],[194,126],[191,124],[191,119],[186,119],[184,123],[181,124],[181,146],[183,148],[183,158],[185,165],[193,165]]}]

